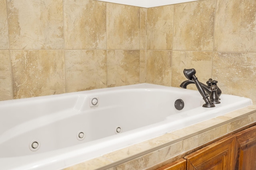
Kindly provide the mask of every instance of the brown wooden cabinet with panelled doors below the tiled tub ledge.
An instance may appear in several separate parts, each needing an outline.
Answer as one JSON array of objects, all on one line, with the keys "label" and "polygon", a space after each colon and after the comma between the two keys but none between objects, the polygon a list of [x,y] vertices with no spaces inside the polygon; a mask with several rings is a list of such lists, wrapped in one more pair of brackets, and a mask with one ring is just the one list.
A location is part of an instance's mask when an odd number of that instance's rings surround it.
[{"label": "brown wooden cabinet with panelled doors below the tiled tub ledge", "polygon": [[229,135],[157,170],[256,170],[256,126]]}]

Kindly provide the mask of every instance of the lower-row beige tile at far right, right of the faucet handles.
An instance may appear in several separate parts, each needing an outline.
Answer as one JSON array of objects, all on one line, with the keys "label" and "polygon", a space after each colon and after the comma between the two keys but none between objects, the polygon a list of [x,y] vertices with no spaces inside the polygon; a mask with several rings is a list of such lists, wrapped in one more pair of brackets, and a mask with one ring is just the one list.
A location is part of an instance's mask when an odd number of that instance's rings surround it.
[{"label": "lower-row beige tile at far right, right of the faucet handles", "polygon": [[256,102],[256,53],[214,53],[212,77],[223,94],[251,98]]}]

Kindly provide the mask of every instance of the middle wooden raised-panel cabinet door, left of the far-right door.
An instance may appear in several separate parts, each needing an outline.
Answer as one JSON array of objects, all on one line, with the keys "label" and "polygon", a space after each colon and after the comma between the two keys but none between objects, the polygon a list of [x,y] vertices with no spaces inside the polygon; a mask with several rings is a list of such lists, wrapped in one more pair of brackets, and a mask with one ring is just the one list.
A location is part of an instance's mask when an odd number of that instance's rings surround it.
[{"label": "middle wooden raised-panel cabinet door, left of the far-right door", "polygon": [[239,144],[230,135],[188,156],[187,170],[234,170],[238,158]]}]

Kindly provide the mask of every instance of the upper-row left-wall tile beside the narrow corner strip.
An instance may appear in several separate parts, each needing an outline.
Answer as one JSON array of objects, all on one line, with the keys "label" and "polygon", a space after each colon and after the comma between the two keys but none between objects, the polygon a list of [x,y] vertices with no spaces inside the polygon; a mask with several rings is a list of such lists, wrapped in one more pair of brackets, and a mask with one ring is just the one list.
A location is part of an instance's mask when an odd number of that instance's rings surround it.
[{"label": "upper-row left-wall tile beside the narrow corner strip", "polygon": [[140,8],[107,3],[107,48],[140,49]]}]

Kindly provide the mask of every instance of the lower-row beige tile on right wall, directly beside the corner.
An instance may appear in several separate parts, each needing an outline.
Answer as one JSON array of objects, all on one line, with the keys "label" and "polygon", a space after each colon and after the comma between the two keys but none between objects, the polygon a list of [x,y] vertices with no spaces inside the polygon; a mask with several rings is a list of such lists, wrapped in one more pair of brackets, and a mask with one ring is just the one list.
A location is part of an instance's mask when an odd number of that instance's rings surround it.
[{"label": "lower-row beige tile on right wall, directly beside the corner", "polygon": [[151,51],[146,56],[146,82],[171,86],[172,51]]}]

